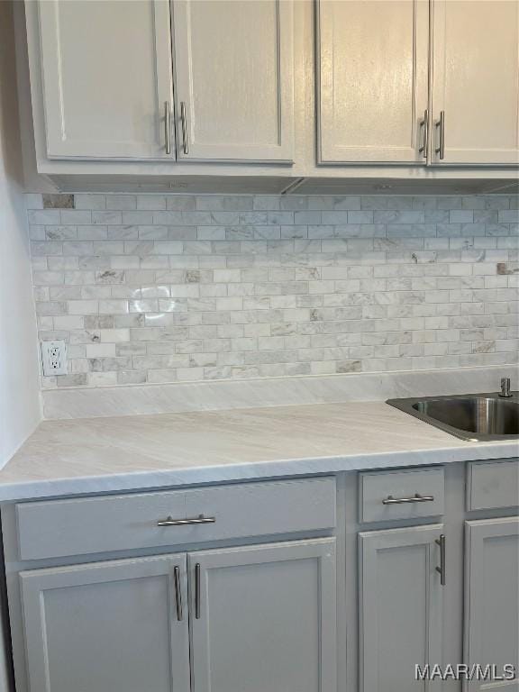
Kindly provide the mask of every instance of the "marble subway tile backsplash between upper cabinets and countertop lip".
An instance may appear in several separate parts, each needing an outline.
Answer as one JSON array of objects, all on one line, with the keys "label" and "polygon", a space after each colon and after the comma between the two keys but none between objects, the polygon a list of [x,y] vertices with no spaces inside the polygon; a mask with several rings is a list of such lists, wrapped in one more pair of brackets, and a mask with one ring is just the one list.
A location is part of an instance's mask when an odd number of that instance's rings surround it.
[{"label": "marble subway tile backsplash between upper cabinets and countertop lip", "polygon": [[515,196],[26,201],[45,388],[518,360]]}]

